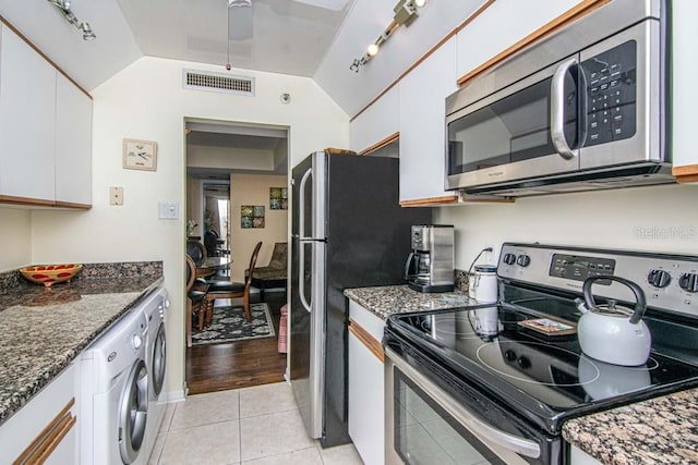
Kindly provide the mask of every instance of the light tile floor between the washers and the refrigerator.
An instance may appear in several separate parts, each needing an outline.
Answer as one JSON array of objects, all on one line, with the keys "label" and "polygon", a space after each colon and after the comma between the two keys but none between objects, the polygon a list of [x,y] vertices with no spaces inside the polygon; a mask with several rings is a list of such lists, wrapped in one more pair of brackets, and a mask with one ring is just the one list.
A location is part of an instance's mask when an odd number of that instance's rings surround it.
[{"label": "light tile floor between the washers and the refrigerator", "polygon": [[148,464],[360,465],[352,444],[305,435],[288,383],[190,395],[168,406]]}]

